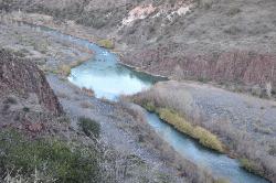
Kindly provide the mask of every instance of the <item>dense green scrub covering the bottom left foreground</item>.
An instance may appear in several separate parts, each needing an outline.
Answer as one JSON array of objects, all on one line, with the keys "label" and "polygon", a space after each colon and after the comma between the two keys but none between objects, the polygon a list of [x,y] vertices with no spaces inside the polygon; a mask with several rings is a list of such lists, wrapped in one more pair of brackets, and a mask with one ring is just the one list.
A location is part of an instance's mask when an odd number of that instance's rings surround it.
[{"label": "dense green scrub covering the bottom left foreground", "polygon": [[98,153],[92,148],[68,146],[59,139],[32,140],[19,131],[0,132],[0,175],[7,170],[31,177],[40,172],[57,183],[99,181]]}]

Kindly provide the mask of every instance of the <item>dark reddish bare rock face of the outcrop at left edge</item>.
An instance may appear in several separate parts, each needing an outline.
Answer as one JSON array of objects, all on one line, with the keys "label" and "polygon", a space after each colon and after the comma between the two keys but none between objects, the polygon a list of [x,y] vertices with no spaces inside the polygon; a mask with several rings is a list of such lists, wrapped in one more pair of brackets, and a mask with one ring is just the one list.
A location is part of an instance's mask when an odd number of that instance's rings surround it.
[{"label": "dark reddish bare rock face of the outcrop at left edge", "polygon": [[35,94],[45,111],[56,116],[63,114],[43,72],[34,63],[18,58],[4,50],[0,51],[0,94],[1,97],[14,94],[24,98]]}]

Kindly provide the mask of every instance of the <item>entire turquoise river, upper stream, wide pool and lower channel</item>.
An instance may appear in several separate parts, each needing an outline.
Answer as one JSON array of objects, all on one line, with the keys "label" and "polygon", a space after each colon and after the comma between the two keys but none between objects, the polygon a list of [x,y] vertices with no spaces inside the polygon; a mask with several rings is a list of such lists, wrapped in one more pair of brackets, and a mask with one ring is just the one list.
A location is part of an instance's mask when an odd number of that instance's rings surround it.
[{"label": "entire turquoise river, upper stream, wide pool and lower channel", "polygon": [[[91,61],[72,69],[68,79],[78,87],[91,88],[96,97],[116,100],[121,94],[135,94],[147,89],[161,78],[138,73],[118,63],[118,57],[95,44],[75,39],[45,28],[51,35],[65,39],[75,44],[85,45],[95,53]],[[178,132],[170,125],[163,122],[157,115],[147,112],[148,123],[176,151],[194,163],[206,168],[217,177],[225,177],[233,183],[266,183],[267,181],[248,173],[240,168],[238,161],[225,154],[209,150],[195,140]]]}]

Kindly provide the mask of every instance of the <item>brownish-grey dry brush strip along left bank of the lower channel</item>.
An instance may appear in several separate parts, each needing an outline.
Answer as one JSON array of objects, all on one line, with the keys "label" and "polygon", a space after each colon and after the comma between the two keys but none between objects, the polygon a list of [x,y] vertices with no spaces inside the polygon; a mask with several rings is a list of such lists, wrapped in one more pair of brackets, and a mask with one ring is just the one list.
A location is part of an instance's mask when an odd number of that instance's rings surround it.
[{"label": "brownish-grey dry brush strip along left bank of the lower channel", "polygon": [[132,134],[137,137],[137,141],[153,150],[159,154],[159,158],[169,163],[171,166],[177,168],[180,176],[184,176],[188,182],[205,182],[205,183],[219,183],[227,182],[224,179],[215,180],[211,172],[206,169],[195,165],[190,160],[183,159],[178,152],[176,152],[170,144],[163,141],[146,122],[144,111],[136,105],[130,105],[128,98],[120,98],[120,105],[123,110],[119,111],[118,116],[126,117],[126,112],[131,115],[135,119],[135,123],[125,125],[124,129],[130,129]]}]

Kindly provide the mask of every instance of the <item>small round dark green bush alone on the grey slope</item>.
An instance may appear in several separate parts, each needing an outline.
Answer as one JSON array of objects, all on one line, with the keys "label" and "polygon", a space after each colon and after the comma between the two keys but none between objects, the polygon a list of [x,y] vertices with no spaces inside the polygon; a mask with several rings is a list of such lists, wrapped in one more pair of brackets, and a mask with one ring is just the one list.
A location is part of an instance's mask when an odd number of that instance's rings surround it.
[{"label": "small round dark green bush alone on the grey slope", "polygon": [[94,136],[98,138],[100,132],[100,126],[96,121],[89,118],[82,117],[78,119],[78,126],[82,128],[86,136]]}]

